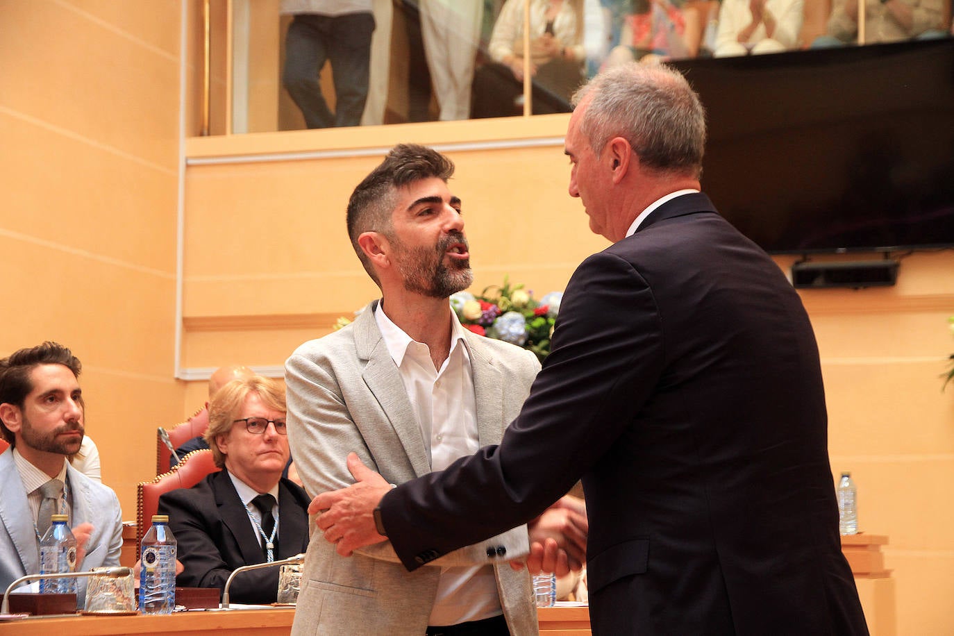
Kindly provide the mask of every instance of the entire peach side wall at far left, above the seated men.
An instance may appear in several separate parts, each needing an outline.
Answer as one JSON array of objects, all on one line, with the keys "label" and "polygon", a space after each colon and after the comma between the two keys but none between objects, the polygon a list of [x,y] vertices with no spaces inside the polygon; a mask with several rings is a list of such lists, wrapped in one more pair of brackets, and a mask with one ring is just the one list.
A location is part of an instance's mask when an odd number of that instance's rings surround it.
[{"label": "entire peach side wall at far left, above the seated men", "polygon": [[87,433],[125,519],[174,380],[177,0],[0,3],[0,355],[83,362]]}]

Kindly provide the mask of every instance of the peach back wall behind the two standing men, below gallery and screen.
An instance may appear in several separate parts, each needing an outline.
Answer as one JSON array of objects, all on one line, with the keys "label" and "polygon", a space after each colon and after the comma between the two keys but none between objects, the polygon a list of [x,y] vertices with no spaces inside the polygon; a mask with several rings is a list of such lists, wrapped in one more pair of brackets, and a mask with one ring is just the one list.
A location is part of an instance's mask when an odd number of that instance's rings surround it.
[{"label": "peach back wall behind the two standing men, below gallery and screen", "polygon": [[[288,158],[187,169],[184,365],[245,361],[280,372],[301,341],[376,296],[344,234],[344,206],[400,141],[449,144],[475,290],[505,275],[538,294],[562,289],[575,264],[606,245],[566,193],[566,124],[567,115],[550,115],[190,140],[197,161]],[[538,145],[479,147],[506,139]],[[784,271],[792,261],[777,258]],[[904,257],[894,287],[801,296],[819,339],[832,469],[858,482],[862,531],[890,538],[883,551],[897,582],[898,633],[950,633],[954,388],[942,393],[939,375],[954,351],[946,326],[954,253]]]}]

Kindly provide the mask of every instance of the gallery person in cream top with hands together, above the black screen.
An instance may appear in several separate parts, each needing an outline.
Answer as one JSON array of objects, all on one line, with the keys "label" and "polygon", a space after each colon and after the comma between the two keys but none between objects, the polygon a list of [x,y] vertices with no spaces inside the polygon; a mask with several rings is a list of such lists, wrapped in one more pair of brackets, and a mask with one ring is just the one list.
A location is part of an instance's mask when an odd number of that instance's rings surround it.
[{"label": "gallery person in cream top with hands together, above the black screen", "polygon": [[716,57],[778,53],[797,48],[803,0],[722,0]]}]

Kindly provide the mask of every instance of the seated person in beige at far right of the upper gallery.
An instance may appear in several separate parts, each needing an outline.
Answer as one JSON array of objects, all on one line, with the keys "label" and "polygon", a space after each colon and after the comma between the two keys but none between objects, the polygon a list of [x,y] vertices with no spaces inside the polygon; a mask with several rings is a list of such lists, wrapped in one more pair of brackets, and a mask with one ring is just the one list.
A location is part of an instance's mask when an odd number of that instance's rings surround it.
[{"label": "seated person in beige at far right of the upper gallery", "polygon": [[[828,32],[812,43],[823,48],[858,41],[858,0],[834,0]],[[897,42],[942,35],[944,0],[867,0],[864,43]]]}]

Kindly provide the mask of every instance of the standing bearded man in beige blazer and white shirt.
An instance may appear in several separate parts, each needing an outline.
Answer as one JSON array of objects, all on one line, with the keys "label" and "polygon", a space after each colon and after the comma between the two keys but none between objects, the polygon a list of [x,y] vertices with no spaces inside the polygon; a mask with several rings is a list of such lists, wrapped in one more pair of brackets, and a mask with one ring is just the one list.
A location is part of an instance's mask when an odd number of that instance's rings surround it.
[{"label": "standing bearded man in beige blazer and white shirt", "polygon": [[[312,495],[353,482],[352,451],[400,483],[500,441],[539,370],[450,308],[472,280],[452,172],[441,154],[398,146],[351,196],[348,232],[383,299],[286,362],[289,441]],[[558,527],[531,524],[531,540],[555,528],[582,561],[586,518],[563,510]],[[293,633],[536,634],[529,574],[508,564],[528,546],[520,526],[409,573],[386,542],[351,558],[311,542]]]}]

